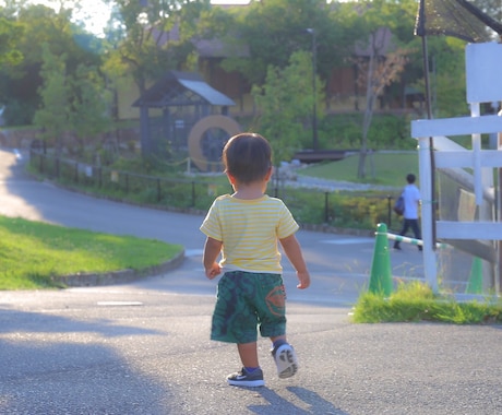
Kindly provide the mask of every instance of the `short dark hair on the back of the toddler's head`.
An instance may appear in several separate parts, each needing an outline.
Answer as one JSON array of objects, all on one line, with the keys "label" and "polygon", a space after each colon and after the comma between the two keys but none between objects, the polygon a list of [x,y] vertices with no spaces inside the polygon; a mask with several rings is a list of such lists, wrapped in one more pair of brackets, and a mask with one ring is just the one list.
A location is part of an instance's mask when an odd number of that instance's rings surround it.
[{"label": "short dark hair on the back of the toddler's head", "polygon": [[262,180],[272,167],[272,147],[262,135],[243,132],[234,135],[223,149],[225,171],[249,185]]}]

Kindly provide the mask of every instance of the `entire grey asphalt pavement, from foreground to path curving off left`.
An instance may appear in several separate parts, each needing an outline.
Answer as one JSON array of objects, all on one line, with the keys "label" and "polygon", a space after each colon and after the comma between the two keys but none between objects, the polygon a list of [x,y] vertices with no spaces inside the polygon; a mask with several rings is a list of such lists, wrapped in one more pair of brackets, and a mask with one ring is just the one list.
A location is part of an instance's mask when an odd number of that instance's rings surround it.
[{"label": "entire grey asphalt pavement, from foreground to path curving off left", "polygon": [[[502,413],[502,327],[350,321],[370,236],[298,233],[312,286],[296,289],[287,261],[284,276],[300,371],[279,380],[261,340],[266,386],[227,386],[240,366],[234,345],[208,340],[216,282],[201,266],[202,216],[61,190],[22,162],[0,151],[0,214],[182,244],[186,260],[130,284],[0,292],[1,414]],[[396,278],[421,276],[416,249],[391,262]]]}]

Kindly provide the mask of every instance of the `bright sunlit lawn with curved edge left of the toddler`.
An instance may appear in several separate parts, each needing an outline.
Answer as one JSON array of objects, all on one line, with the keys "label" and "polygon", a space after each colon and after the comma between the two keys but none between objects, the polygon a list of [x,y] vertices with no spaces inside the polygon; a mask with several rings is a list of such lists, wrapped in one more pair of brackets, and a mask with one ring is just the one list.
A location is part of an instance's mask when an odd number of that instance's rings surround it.
[{"label": "bright sunlit lawn with curved edge left of the toddler", "polygon": [[77,273],[141,271],[182,249],[154,239],[0,216],[0,289],[61,287],[59,276]]}]

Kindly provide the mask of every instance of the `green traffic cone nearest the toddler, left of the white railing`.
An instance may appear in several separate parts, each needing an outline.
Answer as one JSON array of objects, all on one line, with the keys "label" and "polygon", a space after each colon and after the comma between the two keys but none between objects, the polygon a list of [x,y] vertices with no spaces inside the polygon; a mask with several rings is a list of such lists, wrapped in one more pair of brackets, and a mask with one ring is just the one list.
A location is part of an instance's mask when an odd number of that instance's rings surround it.
[{"label": "green traffic cone nearest the toddler, left of the white railing", "polygon": [[374,294],[390,296],[393,292],[391,256],[389,253],[387,225],[376,225],[373,262],[369,290]]}]

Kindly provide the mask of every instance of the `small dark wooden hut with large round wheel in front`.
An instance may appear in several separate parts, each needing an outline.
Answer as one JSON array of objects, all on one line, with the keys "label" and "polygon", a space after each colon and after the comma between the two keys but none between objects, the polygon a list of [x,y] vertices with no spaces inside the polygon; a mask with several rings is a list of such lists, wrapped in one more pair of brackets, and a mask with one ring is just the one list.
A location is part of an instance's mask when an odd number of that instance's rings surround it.
[{"label": "small dark wooden hut with large round wheel in front", "polygon": [[240,132],[228,117],[235,105],[196,73],[165,73],[132,104],[140,109],[142,154],[167,157],[188,150],[202,171],[215,168],[225,141]]}]

